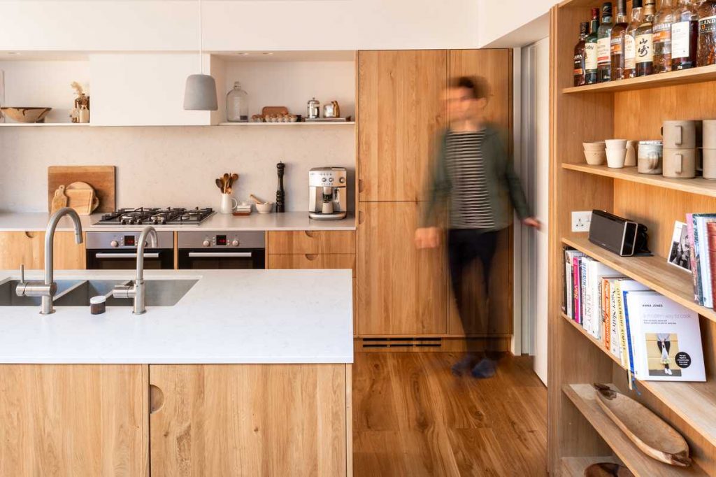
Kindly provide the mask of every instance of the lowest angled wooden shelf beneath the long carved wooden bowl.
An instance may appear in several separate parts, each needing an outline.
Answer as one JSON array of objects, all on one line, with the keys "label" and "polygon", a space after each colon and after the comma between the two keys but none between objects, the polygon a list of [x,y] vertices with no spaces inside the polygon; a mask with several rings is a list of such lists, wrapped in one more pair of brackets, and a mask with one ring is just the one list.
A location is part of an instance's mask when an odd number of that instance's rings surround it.
[{"label": "lowest angled wooden shelf beneath the long carved wooden bowl", "polygon": [[596,402],[596,391],[588,384],[563,385],[562,392],[576,406],[582,415],[601,435],[604,442],[611,447],[624,465],[637,476],[670,477],[670,476],[705,476],[707,475],[697,466],[676,467],[656,461],[642,453],[632,443],[627,435],[621,432],[614,422],[609,419]]}]

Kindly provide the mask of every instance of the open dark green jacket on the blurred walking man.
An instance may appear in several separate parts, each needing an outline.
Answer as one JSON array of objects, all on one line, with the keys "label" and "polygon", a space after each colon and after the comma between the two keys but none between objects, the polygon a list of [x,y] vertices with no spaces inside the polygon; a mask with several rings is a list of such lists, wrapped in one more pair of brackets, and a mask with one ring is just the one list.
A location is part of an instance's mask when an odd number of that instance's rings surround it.
[{"label": "open dark green jacket on the blurred walking man", "polygon": [[[427,187],[428,202],[422,221],[424,227],[435,226],[437,221],[435,207],[450,197],[450,191],[453,188],[445,160],[447,138],[448,130],[442,131],[435,157],[435,167]],[[530,217],[531,212],[527,206],[520,178],[517,177],[512,159],[508,156],[503,141],[500,139],[500,132],[493,125],[485,127],[482,153],[490,208],[492,208],[495,220],[493,230],[497,231],[510,226],[512,223],[511,205],[521,219]]]}]

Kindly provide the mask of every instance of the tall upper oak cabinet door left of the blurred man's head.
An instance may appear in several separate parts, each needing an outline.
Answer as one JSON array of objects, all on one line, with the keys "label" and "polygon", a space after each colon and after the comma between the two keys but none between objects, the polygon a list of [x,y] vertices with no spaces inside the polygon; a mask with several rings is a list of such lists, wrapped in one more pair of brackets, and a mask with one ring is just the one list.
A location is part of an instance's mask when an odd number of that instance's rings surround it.
[{"label": "tall upper oak cabinet door left of the blurred man's head", "polygon": [[420,201],[444,124],[444,50],[359,52],[359,200]]}]

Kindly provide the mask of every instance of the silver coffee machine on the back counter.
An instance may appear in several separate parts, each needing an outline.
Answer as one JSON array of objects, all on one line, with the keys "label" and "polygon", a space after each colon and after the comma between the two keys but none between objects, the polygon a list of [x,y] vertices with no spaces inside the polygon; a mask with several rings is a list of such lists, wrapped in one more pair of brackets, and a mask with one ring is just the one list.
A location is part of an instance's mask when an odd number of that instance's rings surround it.
[{"label": "silver coffee machine on the back counter", "polygon": [[346,217],[347,173],[345,168],[309,170],[309,217],[339,220]]}]

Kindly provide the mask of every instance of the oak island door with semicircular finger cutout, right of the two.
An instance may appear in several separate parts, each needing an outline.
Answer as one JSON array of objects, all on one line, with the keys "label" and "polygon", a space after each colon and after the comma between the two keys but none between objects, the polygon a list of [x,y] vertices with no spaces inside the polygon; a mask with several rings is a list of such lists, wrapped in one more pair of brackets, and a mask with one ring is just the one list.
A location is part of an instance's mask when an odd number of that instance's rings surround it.
[{"label": "oak island door with semicircular finger cutout, right of the two", "polygon": [[345,476],[349,367],[150,366],[152,476]]}]

